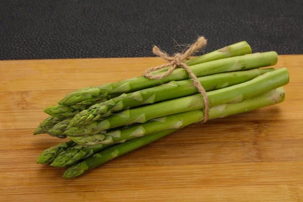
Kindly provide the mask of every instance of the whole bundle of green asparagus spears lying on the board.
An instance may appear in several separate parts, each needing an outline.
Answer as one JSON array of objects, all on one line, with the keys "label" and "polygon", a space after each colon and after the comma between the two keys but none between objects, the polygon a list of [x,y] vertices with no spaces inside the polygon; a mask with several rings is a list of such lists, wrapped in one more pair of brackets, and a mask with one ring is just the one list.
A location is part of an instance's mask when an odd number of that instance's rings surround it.
[{"label": "whole bundle of green asparagus spears lying on the board", "polygon": [[[242,41],[190,60],[185,64],[207,91],[209,120],[283,102],[282,86],[289,81],[285,68],[275,65],[276,52],[251,54]],[[152,72],[162,75],[170,67]],[[204,97],[185,69],[161,79],[136,77],[75,90],[34,134],[69,138],[48,148],[37,163],[69,167],[71,178],[205,118]]]}]

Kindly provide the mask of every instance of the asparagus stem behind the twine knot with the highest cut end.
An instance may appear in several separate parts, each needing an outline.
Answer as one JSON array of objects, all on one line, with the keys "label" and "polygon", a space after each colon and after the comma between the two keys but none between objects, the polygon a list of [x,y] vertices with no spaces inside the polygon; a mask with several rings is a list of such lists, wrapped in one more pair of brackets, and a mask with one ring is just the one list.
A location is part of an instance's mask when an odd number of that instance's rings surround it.
[{"label": "asparagus stem behind the twine knot with the highest cut end", "polygon": [[[225,46],[217,51],[190,59],[185,61],[185,64],[188,66],[197,65],[201,63],[206,63],[210,61],[220,60],[224,58],[231,58],[236,56],[243,56],[246,54],[251,54],[251,48],[246,41],[241,41],[238,43],[234,43],[228,46]],[[159,73],[167,71],[170,67],[166,67],[160,70],[153,71],[151,73]]]}]

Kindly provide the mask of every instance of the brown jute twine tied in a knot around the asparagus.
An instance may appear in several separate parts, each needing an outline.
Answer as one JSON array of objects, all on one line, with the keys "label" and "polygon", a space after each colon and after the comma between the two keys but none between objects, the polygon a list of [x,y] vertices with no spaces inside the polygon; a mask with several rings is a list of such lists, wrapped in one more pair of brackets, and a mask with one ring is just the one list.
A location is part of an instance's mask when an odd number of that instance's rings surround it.
[{"label": "brown jute twine tied in a knot around the asparagus", "polygon": [[[209,118],[209,99],[207,97],[206,91],[203,88],[203,86],[201,85],[201,83],[199,82],[198,78],[193,74],[193,72],[191,71],[191,69],[184,63],[186,60],[188,60],[188,58],[196,53],[199,49],[203,48],[205,45],[207,44],[207,40],[205,37],[200,36],[193,44],[191,44],[187,50],[185,51],[184,54],[181,53],[177,53],[174,55],[173,58],[170,58],[170,56],[165,53],[164,51],[161,51],[161,49],[158,46],[154,46],[153,47],[153,53],[157,56],[159,56],[160,58],[163,58],[164,60],[166,60],[168,63],[164,64],[164,65],[159,65],[157,67],[153,67],[153,68],[149,68],[147,70],[145,70],[143,76],[150,78],[150,79],[162,79],[164,77],[167,77],[168,75],[171,74],[171,72],[173,70],[175,70],[176,68],[183,68],[188,72],[189,77],[193,80],[193,85],[198,89],[198,91],[202,94],[203,96],[203,100],[204,100],[204,105],[205,105],[205,115],[204,115],[204,120],[203,123],[207,122],[208,118]],[[171,66],[171,68],[168,69],[168,71],[162,75],[153,75],[153,74],[149,74],[149,72],[155,71],[155,70],[159,70],[165,67],[169,67]]]}]

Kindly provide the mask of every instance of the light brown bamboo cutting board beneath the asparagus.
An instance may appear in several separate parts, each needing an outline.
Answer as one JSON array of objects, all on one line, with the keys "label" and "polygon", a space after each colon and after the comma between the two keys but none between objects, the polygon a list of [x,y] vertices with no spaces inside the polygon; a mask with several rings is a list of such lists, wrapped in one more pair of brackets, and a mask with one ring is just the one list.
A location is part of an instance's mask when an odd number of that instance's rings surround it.
[{"label": "light brown bamboo cutting board beneath the asparagus", "polygon": [[158,58],[0,61],[0,201],[303,201],[303,56],[280,56],[286,100],[181,129],[75,179],[36,165],[33,136],[68,92],[143,73]]}]

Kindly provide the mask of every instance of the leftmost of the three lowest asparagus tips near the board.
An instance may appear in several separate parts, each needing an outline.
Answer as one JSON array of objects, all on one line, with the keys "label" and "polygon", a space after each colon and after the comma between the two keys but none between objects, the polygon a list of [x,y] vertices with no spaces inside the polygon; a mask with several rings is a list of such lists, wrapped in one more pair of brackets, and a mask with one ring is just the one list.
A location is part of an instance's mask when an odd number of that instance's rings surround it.
[{"label": "leftmost of the three lowest asparagus tips near the board", "polygon": [[51,164],[54,159],[65,149],[75,144],[72,140],[61,142],[56,146],[45,149],[37,159],[37,164]]}]

